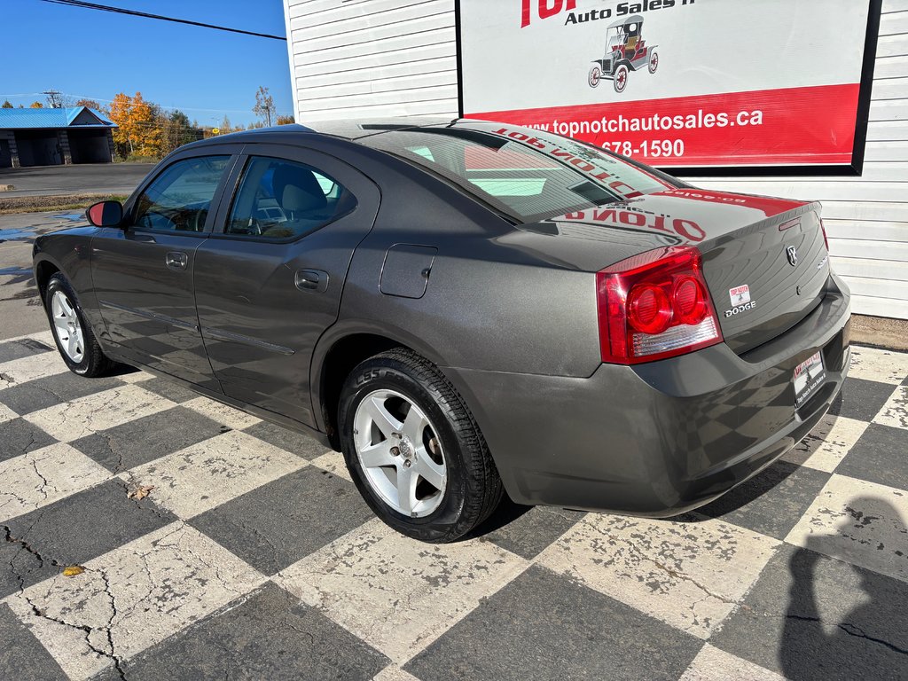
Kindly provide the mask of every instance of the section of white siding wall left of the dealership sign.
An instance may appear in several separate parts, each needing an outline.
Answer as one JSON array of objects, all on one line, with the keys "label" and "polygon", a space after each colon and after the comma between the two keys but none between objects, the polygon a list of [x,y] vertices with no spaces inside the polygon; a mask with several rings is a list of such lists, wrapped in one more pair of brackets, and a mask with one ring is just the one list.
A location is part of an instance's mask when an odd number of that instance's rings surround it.
[{"label": "section of white siding wall left of the dealership sign", "polygon": [[455,117],[454,0],[284,0],[297,120]]}]

